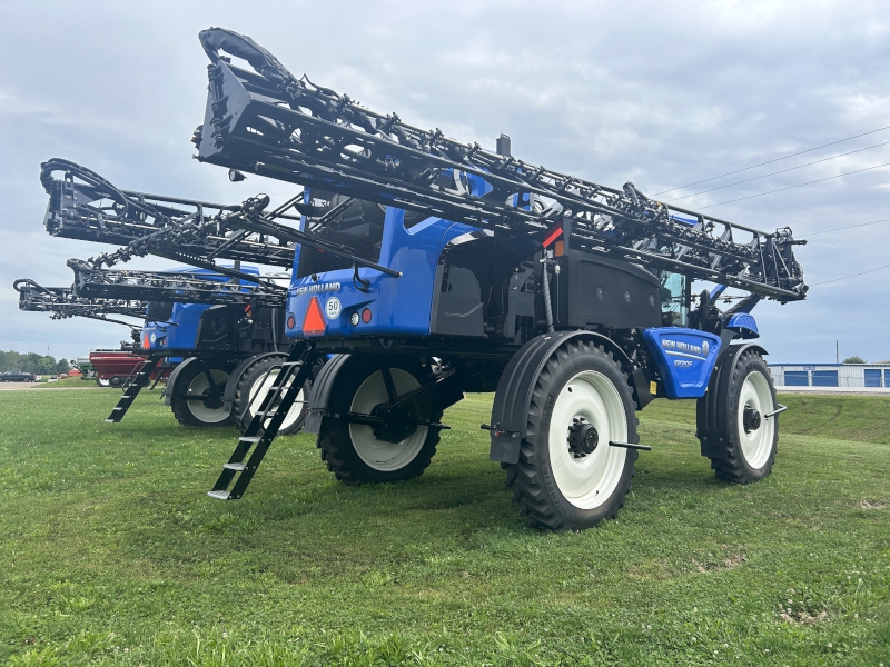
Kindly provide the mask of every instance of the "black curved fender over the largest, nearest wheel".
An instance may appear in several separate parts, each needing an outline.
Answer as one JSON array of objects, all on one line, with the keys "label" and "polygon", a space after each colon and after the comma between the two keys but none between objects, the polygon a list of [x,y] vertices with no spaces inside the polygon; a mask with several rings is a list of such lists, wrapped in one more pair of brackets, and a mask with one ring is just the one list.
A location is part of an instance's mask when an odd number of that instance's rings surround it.
[{"label": "black curved fender over the largest, nearest wheel", "polygon": [[[517,464],[520,461],[520,445],[523,437],[525,437],[525,426],[528,408],[532,404],[535,380],[550,356],[557,348],[575,338],[602,345],[606,350],[616,355],[622,365],[633,368],[633,362],[627,357],[627,354],[615,341],[602,334],[586,330],[556,331],[532,338],[518,352],[513,355],[497,382],[497,391],[494,395],[494,405],[492,406],[492,448],[488,455],[491,460],[503,464]],[[630,379],[632,384],[639,381],[636,374],[631,376]]]}]

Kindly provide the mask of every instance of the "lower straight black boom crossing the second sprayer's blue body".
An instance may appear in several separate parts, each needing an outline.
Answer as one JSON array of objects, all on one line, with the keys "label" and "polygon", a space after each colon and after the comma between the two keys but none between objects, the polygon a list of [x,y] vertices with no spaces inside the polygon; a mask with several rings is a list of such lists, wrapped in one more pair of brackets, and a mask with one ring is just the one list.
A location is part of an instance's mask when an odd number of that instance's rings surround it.
[{"label": "lower straight black boom crossing the second sprayer's blue body", "polygon": [[[73,293],[87,299],[129,299],[181,303],[254,305],[284,307],[287,289],[274,283],[224,282],[188,272],[118,271],[95,269],[68,260],[75,272]],[[145,311],[144,311],[145,312]]]}]

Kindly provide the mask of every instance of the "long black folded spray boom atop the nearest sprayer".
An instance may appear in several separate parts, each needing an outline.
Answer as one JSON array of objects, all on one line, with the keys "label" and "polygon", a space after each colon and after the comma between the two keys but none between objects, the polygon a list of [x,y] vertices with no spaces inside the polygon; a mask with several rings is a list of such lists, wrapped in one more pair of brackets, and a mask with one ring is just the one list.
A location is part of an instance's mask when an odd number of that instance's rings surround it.
[{"label": "long black folded spray boom atop the nearest sprayer", "polygon": [[[791,230],[763,232],[425,131],[297,79],[247,37],[200,33],[211,64],[198,159],[359,199],[542,238],[781,301],[805,298]],[[226,51],[255,72],[231,66]]]}]

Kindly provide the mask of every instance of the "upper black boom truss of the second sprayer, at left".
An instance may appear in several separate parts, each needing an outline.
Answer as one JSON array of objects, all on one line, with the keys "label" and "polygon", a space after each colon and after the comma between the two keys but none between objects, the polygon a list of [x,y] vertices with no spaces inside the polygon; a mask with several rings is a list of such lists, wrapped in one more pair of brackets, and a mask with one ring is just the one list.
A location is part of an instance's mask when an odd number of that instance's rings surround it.
[{"label": "upper black boom truss of the second sprayer, at left", "polygon": [[[62,172],[61,179],[53,177],[58,171]],[[318,239],[279,222],[299,220],[287,212],[291,208],[314,216],[310,220],[316,222],[338,212],[338,207],[304,205],[301,192],[271,211],[266,211],[267,195],[224,206],[119,190],[95,171],[59,158],[42,165],[40,179],[50,196],[44,217],[47,231],[65,238],[121,246],[80,262],[93,269],[155,255],[257,281],[248,273],[218,266],[216,260],[246,260],[289,268],[294,262],[295,243],[301,243],[346,259],[356,267],[399,276],[398,271],[356,256],[347,246]]]}]

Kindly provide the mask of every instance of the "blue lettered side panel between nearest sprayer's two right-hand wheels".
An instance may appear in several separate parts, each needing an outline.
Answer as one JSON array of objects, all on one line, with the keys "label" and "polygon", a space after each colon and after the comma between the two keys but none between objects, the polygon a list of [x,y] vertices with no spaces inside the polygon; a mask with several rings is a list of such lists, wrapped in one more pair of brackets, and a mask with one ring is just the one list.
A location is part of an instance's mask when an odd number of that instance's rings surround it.
[{"label": "blue lettered side panel between nearest sprayer's two right-hand wheels", "polygon": [[698,329],[657,327],[643,331],[668,398],[701,398],[720,351],[720,338]]}]

